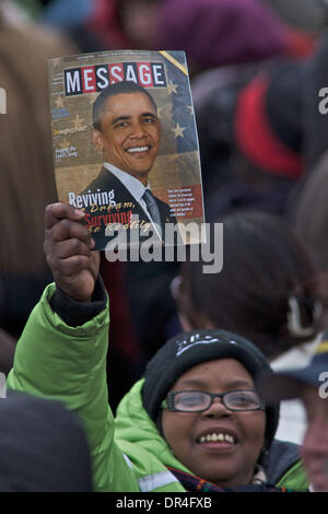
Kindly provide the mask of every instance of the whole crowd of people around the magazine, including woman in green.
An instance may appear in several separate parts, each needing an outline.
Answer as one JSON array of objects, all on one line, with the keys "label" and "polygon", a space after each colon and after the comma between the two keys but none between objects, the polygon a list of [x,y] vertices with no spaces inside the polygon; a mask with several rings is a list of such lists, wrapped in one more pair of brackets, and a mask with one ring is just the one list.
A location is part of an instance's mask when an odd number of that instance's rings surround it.
[{"label": "whole crowd of people around the magazine, including woman in green", "polygon": [[[0,490],[328,491],[328,5],[300,3],[0,1]],[[186,51],[218,273],[108,262],[55,203],[46,59],[119,48]]]}]

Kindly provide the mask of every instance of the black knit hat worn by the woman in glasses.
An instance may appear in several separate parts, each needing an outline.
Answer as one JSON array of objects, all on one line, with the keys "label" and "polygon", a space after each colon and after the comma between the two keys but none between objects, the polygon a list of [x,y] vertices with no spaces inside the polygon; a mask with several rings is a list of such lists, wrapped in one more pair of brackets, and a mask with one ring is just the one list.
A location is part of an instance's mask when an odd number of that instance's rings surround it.
[{"label": "black knit hat worn by the woman in glasses", "polygon": [[[265,355],[241,336],[219,329],[181,334],[169,339],[145,369],[142,400],[150,418],[156,422],[161,402],[183,373],[215,359],[235,359],[241,362],[251,375],[255,385],[273,373]],[[266,413],[265,439],[269,448],[278,425],[279,406],[267,407]]]}]

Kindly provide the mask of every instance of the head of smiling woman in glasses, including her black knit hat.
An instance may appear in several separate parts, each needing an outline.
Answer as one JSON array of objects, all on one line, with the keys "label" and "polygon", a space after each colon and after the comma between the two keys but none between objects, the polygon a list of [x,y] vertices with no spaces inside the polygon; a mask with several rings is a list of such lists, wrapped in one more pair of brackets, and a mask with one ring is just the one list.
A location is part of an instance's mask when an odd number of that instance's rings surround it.
[{"label": "head of smiling woman in glasses, including her black knit hat", "polygon": [[176,468],[224,488],[253,483],[259,469],[266,480],[279,409],[266,409],[256,384],[270,374],[265,357],[231,332],[200,330],[167,341],[147,367],[142,398]]}]

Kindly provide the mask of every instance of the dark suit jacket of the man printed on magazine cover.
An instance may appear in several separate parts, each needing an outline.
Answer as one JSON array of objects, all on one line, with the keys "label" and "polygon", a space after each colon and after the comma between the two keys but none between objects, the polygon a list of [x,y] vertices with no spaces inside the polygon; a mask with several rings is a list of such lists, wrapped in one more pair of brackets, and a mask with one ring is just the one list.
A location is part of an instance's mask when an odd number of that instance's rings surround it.
[{"label": "dark suit jacket of the man printed on magazine cover", "polygon": [[[142,226],[147,227],[151,223],[151,220],[145,211],[138,203],[131,192],[126,188],[126,186],[107,168],[103,167],[98,176],[81,192],[81,195],[87,195],[89,192],[96,194],[97,191],[99,194],[105,191],[109,194],[112,190],[114,190],[113,200],[116,202],[117,207],[113,207],[109,210],[107,208],[101,209],[99,205],[97,209],[91,209],[89,207],[85,208],[86,214],[97,217],[96,223],[97,226],[101,226],[101,230],[92,231],[92,235],[96,242],[95,249],[105,249],[106,244],[110,241],[110,237],[105,235],[106,223],[113,223],[112,226],[117,223],[126,224],[128,223],[129,217],[132,214],[138,214],[139,217],[139,224],[141,226],[139,235],[140,241],[142,242],[143,238],[148,238],[150,235],[152,235],[152,232],[149,232],[149,235],[145,236],[142,231]],[[161,214],[162,234],[164,237],[165,223],[176,223],[176,219],[174,214],[171,213],[171,209],[167,203],[156,197],[155,199]],[[90,217],[86,215],[85,218],[90,223]],[[93,222],[95,223],[95,219]],[[127,231],[127,237],[129,241],[129,230]]]}]

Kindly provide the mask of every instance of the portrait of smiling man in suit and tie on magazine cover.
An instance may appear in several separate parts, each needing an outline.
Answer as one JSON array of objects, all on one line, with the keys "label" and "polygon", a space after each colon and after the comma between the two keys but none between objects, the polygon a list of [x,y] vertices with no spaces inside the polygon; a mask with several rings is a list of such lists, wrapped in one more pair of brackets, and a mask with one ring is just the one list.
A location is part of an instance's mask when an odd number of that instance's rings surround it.
[{"label": "portrait of smiling man in suit and tie on magazine cover", "polygon": [[[140,230],[151,225],[163,243],[165,223],[176,223],[176,219],[149,185],[161,140],[157,108],[150,93],[134,82],[118,82],[103,90],[93,104],[92,140],[103,154],[103,167],[83,192],[107,191],[112,222],[114,215],[127,212],[124,221],[130,224],[130,217],[138,214]],[[107,241],[104,235],[102,246]]]}]

